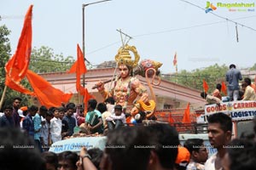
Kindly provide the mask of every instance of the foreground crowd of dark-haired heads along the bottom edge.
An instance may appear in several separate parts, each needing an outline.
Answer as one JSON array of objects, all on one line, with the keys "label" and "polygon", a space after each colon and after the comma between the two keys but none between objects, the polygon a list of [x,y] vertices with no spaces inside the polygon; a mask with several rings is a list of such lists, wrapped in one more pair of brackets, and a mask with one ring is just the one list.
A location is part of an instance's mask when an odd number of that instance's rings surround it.
[{"label": "foreground crowd of dark-haired heads along the bottom edge", "polygon": [[[254,126],[254,131],[256,126]],[[82,147],[79,153],[40,153],[37,143],[17,127],[0,128],[1,169],[70,170],[194,170],[256,169],[256,140],[233,139],[230,116],[219,112],[208,118],[208,138],[187,139],[181,144],[175,127],[168,123],[118,127],[109,130],[104,150]],[[207,149],[217,152],[208,157]],[[12,163],[9,161],[19,161]]]}]

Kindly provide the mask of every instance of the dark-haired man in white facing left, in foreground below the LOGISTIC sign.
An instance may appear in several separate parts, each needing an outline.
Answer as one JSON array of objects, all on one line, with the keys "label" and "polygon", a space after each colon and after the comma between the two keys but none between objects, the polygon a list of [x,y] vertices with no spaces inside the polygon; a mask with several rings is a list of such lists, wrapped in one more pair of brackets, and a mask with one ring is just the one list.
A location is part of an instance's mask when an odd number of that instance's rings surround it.
[{"label": "dark-haired man in white facing left, in foreground below the LOGISTIC sign", "polygon": [[226,145],[230,143],[232,136],[232,120],[223,112],[212,114],[208,117],[208,138],[217,153],[208,158],[205,170],[221,169],[221,160],[226,153]]}]

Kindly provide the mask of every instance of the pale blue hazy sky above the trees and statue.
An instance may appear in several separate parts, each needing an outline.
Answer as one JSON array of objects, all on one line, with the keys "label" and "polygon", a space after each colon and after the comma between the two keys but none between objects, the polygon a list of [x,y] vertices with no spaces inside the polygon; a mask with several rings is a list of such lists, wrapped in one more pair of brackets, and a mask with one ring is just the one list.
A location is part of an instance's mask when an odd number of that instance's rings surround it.
[{"label": "pale blue hazy sky above the trees and statue", "polygon": [[[76,45],[82,48],[82,3],[92,0],[15,1],[0,0],[0,26],[11,32],[15,52],[26,10],[33,4],[32,46],[53,48],[55,54],[72,55]],[[206,0],[187,0],[201,8]],[[254,0],[212,0],[217,3],[254,3]],[[113,0],[85,8],[85,57],[95,65],[113,60],[121,38],[117,29],[133,37],[141,59],[163,63],[162,73],[174,72],[172,60],[177,52],[178,71],[192,71],[209,65],[253,66],[255,61],[256,9],[253,12],[230,12],[217,8],[212,13],[234,20],[236,25],[206,14],[204,10],[181,0]],[[256,2],[255,2],[256,5]],[[234,8],[233,8],[234,9]],[[236,8],[237,9],[237,8]],[[239,19],[239,20],[237,20]],[[248,29],[245,26],[252,27]]]}]

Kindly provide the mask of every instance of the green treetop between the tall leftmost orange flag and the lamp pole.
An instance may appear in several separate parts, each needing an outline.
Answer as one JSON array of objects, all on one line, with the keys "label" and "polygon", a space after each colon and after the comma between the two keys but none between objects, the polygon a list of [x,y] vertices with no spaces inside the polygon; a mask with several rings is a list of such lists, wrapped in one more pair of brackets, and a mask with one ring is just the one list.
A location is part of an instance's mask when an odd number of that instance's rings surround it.
[{"label": "green treetop between the tall leftmost orange flag and the lamp pole", "polygon": [[62,54],[54,54],[52,48],[42,46],[32,49],[29,69],[37,73],[67,71],[73,62],[72,56],[64,58]]}]

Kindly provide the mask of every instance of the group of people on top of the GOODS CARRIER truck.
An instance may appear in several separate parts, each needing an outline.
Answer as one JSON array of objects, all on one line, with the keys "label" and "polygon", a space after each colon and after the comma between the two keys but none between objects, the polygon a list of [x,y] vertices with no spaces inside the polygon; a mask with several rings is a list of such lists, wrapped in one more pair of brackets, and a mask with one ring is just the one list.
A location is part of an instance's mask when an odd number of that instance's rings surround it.
[{"label": "group of people on top of the GOODS CARRIER truck", "polygon": [[201,93],[201,97],[207,100],[208,104],[220,104],[226,101],[237,101],[237,100],[256,100],[256,87],[252,84],[250,78],[246,77],[242,80],[241,71],[236,69],[236,65],[230,65],[230,70],[226,73],[226,82],[228,82],[228,96],[227,98],[222,98],[221,89],[222,85],[218,83],[216,89],[212,94],[207,94],[206,92]]}]

